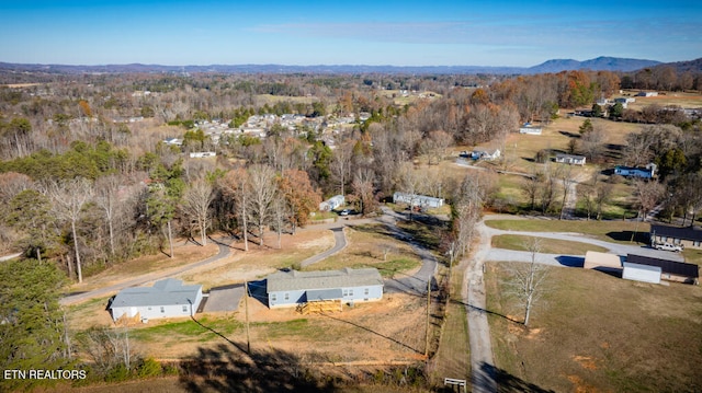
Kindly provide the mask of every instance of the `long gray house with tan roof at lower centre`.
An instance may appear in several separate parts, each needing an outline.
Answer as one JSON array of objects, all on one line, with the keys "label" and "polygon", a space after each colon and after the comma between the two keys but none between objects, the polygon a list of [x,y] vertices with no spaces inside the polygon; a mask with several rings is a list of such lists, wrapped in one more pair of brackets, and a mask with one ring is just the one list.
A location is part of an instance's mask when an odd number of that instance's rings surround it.
[{"label": "long gray house with tan roof at lower centre", "polygon": [[383,299],[383,278],[375,268],[276,271],[267,277],[267,292],[271,309],[318,300],[365,302]]}]

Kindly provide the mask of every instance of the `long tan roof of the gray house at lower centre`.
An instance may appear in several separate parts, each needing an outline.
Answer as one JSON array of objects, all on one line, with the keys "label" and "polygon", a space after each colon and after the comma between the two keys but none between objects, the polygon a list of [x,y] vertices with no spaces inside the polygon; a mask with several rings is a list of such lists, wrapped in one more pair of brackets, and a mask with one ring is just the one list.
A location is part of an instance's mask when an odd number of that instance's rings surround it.
[{"label": "long tan roof of the gray house at lower centre", "polygon": [[276,271],[267,278],[268,292],[337,289],[361,286],[382,286],[383,278],[375,268],[317,271]]}]

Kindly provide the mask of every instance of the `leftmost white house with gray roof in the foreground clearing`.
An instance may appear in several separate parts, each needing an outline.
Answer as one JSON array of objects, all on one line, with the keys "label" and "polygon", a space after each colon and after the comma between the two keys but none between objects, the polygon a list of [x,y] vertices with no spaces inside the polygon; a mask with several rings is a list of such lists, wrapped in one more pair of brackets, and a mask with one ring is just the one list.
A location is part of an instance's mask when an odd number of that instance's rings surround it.
[{"label": "leftmost white house with gray roof in the foreground clearing", "polygon": [[125,288],[110,304],[112,320],[122,316],[143,321],[157,317],[191,316],[202,301],[202,286],[184,286],[183,281],[167,278],[156,281],[152,287]]}]

